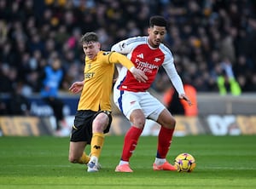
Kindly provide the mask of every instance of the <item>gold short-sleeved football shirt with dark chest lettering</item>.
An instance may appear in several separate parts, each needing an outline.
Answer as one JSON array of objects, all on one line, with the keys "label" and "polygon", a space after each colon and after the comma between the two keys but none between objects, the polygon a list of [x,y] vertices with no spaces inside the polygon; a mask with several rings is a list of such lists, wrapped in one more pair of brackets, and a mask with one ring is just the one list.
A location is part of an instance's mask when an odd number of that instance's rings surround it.
[{"label": "gold short-sleeved football shirt with dark chest lettering", "polygon": [[134,66],[125,55],[116,52],[100,51],[93,60],[85,57],[84,88],[78,110],[111,111],[110,95],[115,63],[129,70]]}]

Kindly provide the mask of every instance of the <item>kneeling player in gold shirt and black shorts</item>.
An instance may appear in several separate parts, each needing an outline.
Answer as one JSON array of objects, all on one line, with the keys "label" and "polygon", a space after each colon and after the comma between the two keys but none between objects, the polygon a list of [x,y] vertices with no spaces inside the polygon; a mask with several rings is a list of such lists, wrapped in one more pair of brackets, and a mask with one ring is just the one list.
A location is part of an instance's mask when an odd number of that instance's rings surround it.
[{"label": "kneeling player in gold shirt and black shorts", "polygon": [[[73,94],[82,93],[74,118],[68,158],[71,163],[87,164],[88,172],[96,172],[104,134],[108,133],[112,122],[110,94],[114,64],[125,66],[139,82],[145,83],[148,77],[125,55],[102,51],[95,32],[85,33],[81,43],[85,54],[84,81],[75,82],[70,87]],[[84,152],[86,145],[90,145],[90,157]]]}]

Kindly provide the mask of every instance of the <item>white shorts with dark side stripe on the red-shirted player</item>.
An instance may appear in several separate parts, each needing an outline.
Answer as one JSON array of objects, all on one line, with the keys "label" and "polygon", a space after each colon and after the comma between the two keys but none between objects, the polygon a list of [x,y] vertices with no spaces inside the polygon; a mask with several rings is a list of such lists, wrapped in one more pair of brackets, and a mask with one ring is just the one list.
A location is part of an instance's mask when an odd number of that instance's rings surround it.
[{"label": "white shorts with dark side stripe on the red-shirted player", "polygon": [[113,89],[113,102],[120,112],[130,119],[131,112],[141,109],[146,118],[157,121],[160,112],[166,107],[148,92],[131,92]]}]

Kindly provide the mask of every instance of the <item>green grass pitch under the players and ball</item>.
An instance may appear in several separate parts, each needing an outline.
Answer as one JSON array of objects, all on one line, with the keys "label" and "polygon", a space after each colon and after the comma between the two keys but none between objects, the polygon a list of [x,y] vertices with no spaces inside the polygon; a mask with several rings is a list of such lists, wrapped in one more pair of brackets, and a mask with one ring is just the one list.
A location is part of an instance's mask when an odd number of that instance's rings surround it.
[{"label": "green grass pitch under the players and ball", "polygon": [[0,137],[0,188],[256,188],[255,135],[173,137],[168,160],[191,153],[192,173],[154,171],[156,142],[142,136],[131,158],[134,172],[115,173],[123,136],[106,136],[102,169],[87,173],[68,162],[68,138]]}]

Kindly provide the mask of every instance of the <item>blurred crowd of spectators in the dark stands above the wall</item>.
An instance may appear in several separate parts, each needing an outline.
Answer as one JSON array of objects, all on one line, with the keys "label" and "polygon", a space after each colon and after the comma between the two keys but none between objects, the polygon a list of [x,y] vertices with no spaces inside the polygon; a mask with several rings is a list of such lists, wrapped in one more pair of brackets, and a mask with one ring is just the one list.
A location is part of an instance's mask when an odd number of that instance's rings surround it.
[{"label": "blurred crowd of spectators in the dark stands above the wall", "polygon": [[[199,92],[218,92],[220,76],[242,92],[256,91],[256,2],[253,0],[0,0],[0,92],[19,86],[38,93],[41,72],[61,59],[61,90],[83,79],[80,37],[96,31],[103,50],[126,37],[147,35],[148,18],[170,22],[166,45],[177,71]],[[20,87],[21,86],[21,87]],[[154,85],[171,83],[160,70]]]}]

